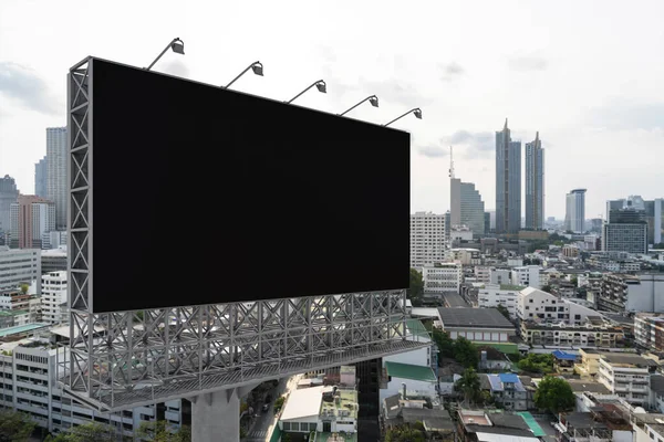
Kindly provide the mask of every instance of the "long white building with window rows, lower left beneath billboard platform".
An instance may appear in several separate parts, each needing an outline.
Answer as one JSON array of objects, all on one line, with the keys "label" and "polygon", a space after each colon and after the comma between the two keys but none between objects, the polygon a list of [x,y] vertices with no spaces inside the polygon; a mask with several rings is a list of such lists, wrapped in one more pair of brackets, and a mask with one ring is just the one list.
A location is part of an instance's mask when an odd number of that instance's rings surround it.
[{"label": "long white building with window rows, lower left beneath billboard platform", "polygon": [[166,420],[170,428],[190,423],[190,404],[183,400],[101,413],[63,397],[56,382],[56,359],[66,358],[66,350],[55,348],[48,339],[23,339],[3,344],[1,349],[0,406],[28,413],[49,432],[98,422],[133,436],[142,422]]}]

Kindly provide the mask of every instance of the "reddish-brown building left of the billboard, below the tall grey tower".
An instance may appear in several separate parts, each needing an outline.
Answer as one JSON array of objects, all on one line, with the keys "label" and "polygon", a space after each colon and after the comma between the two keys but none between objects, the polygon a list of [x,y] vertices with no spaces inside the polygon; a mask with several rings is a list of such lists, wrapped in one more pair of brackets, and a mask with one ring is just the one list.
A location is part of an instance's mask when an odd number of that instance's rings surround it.
[{"label": "reddish-brown building left of the billboard, below the tall grey tower", "polygon": [[55,204],[33,194],[20,194],[10,215],[12,249],[41,249],[42,235],[55,230]]}]

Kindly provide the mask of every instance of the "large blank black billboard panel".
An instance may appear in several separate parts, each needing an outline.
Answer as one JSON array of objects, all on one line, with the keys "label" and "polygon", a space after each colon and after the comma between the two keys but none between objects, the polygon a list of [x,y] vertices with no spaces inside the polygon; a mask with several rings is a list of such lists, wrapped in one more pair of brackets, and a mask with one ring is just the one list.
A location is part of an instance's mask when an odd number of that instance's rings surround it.
[{"label": "large blank black billboard panel", "polygon": [[92,312],[408,286],[409,134],[91,62]]}]

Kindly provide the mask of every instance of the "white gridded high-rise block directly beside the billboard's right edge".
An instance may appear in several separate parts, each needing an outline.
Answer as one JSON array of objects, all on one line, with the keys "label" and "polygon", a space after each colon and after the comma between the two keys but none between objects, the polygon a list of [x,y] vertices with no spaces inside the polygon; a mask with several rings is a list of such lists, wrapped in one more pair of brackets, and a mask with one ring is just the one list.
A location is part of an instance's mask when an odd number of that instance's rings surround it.
[{"label": "white gridded high-rise block directly beside the billboard's right edge", "polygon": [[445,214],[411,214],[411,267],[421,270],[445,259]]}]

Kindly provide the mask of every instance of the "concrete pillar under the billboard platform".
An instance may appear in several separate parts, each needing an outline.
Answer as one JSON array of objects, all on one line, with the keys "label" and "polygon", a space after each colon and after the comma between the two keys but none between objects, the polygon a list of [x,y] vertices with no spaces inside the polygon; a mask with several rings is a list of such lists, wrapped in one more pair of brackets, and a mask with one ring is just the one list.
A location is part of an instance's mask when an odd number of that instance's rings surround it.
[{"label": "concrete pillar under the billboard platform", "polygon": [[191,442],[239,442],[240,398],[257,385],[201,393],[191,401]]}]

